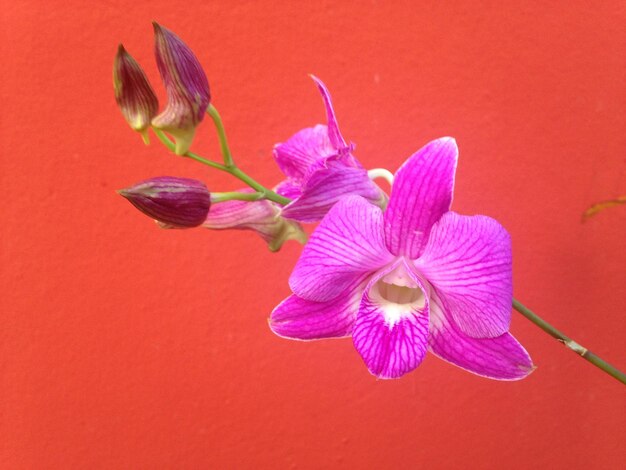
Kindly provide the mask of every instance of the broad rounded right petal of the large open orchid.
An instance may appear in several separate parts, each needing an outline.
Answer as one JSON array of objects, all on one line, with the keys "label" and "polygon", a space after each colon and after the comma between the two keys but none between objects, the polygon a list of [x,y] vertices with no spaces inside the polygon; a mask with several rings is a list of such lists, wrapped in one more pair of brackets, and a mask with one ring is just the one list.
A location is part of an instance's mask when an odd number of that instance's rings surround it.
[{"label": "broad rounded right petal of the large open orchid", "polygon": [[490,217],[444,214],[415,262],[458,328],[473,338],[506,333],[511,323],[511,237]]}]

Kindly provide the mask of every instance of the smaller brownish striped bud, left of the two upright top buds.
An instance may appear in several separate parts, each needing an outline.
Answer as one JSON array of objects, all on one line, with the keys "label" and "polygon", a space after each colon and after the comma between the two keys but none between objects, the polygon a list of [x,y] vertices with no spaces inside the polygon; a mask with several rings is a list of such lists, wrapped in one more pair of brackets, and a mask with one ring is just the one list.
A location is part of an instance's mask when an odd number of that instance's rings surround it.
[{"label": "smaller brownish striped bud, left of the two upright top buds", "polygon": [[147,144],[148,127],[159,102],[143,70],[121,44],[113,62],[113,89],[124,118]]}]

